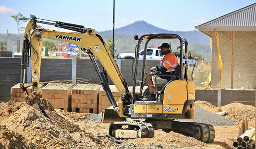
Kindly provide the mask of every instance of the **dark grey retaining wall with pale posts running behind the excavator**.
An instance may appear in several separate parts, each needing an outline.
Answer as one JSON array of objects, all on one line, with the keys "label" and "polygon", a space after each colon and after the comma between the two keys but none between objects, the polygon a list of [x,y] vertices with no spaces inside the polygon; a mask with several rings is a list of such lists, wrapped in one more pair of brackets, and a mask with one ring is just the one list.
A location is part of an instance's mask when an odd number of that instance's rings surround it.
[{"label": "dark grey retaining wall with pale posts running behind the excavator", "polygon": [[[99,60],[98,67],[102,70],[102,65]],[[132,80],[132,62],[133,60],[117,61],[122,75],[129,86],[133,85]],[[11,99],[11,88],[14,84],[20,82],[20,63],[21,58],[0,57],[0,101],[9,101]],[[145,72],[152,66],[159,65],[159,61],[147,61]],[[139,61],[138,70],[141,70],[142,62]],[[141,71],[138,72],[141,76]],[[202,86],[201,82],[207,79],[204,72],[195,72],[195,86]],[[191,72],[188,72],[188,77],[191,79]],[[27,82],[31,82],[31,71],[26,72]],[[42,58],[40,82],[52,80],[72,80],[74,78],[87,79],[89,83],[98,84],[98,76],[90,59],[63,59],[63,58]],[[112,81],[109,79],[109,84]],[[73,82],[74,83],[74,82]],[[139,86],[139,83],[136,84]],[[217,93],[216,93],[217,92]],[[196,90],[196,100],[206,100],[217,105],[218,90]],[[253,91],[232,91],[221,90],[221,105],[241,102],[244,104],[255,105],[255,90]]]}]

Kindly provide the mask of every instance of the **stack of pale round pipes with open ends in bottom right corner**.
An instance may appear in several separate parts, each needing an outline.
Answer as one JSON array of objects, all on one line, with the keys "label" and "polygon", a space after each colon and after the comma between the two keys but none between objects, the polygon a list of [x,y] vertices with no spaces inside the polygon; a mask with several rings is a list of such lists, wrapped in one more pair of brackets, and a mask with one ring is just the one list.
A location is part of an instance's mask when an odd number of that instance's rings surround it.
[{"label": "stack of pale round pipes with open ends in bottom right corner", "polygon": [[250,127],[233,142],[236,149],[255,149],[255,127]]}]

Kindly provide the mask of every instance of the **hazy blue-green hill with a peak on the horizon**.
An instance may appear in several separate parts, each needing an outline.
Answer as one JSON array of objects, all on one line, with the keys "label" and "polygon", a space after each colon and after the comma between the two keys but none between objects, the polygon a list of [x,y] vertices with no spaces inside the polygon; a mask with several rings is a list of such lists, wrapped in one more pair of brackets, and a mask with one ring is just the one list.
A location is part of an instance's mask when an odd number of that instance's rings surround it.
[{"label": "hazy blue-green hill with a peak on the horizon", "polygon": [[[146,23],[145,21],[137,21],[132,24],[126,25],[121,28],[115,29],[115,49],[117,49],[117,53],[134,53],[135,45],[137,41],[134,40],[133,35],[138,34],[139,36],[142,34],[148,33],[158,34],[158,33],[172,33],[172,34],[179,34],[187,39],[189,43],[189,50],[195,50],[197,53],[202,53],[204,57],[205,54],[211,54],[210,51],[210,39],[205,34],[202,34],[196,30],[194,31],[168,31],[165,29],[158,28],[154,25]],[[112,38],[112,30],[98,32],[99,35],[102,36],[104,41],[106,42],[109,38]],[[17,51],[17,34],[8,34],[8,51]],[[23,37],[20,37],[21,45],[20,49],[22,49],[22,41]],[[0,41],[6,42],[6,34],[0,33]],[[169,42],[169,41],[161,41],[161,42]],[[61,44],[61,42],[55,41],[56,44]],[[159,41],[150,41],[148,46],[150,47],[157,47],[160,45]],[[178,43],[171,43],[171,47],[173,51],[176,51]],[[209,57],[207,57],[209,59]]]}]

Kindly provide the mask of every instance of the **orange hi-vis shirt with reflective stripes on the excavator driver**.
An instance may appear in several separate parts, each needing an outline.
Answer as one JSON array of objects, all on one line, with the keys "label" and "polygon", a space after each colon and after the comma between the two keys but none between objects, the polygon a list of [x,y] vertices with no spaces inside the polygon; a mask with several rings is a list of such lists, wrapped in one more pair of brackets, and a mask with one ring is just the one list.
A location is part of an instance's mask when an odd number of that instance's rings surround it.
[{"label": "orange hi-vis shirt with reflective stripes on the excavator driver", "polygon": [[178,58],[172,52],[169,52],[164,56],[162,66],[167,69],[166,72],[174,71],[179,66]]}]

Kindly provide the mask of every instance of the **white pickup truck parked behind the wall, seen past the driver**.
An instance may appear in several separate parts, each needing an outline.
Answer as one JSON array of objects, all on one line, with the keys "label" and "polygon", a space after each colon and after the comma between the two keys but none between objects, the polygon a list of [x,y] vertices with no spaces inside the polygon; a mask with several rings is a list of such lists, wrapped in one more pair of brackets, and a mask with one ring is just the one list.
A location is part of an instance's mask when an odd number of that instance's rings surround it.
[{"label": "white pickup truck parked behind the wall, seen past the driver", "polygon": [[[139,60],[143,60],[144,56],[144,49],[139,52]],[[116,56],[116,59],[134,59],[135,54],[134,53],[120,53]],[[162,60],[163,55],[160,52],[160,49],[158,48],[147,48],[146,51],[146,60]],[[178,59],[180,59],[178,57]],[[179,60],[180,61],[180,60]],[[183,62],[185,59],[183,59]],[[187,59],[188,64],[195,65],[195,59]]]}]

